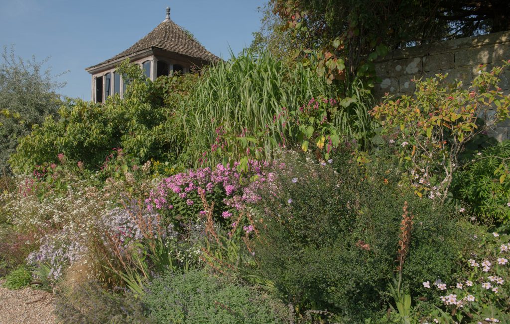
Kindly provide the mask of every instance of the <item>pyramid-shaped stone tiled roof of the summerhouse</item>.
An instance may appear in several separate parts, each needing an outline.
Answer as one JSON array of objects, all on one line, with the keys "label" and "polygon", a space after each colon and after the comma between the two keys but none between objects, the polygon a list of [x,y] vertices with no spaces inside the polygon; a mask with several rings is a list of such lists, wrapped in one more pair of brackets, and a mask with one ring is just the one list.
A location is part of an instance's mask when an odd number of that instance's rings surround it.
[{"label": "pyramid-shaped stone tiled roof of the summerhouse", "polygon": [[91,66],[87,69],[95,68],[103,64],[113,62],[121,57],[129,56],[133,53],[150,49],[151,47],[161,48],[169,52],[186,55],[207,63],[219,61],[219,57],[208,51],[197,41],[188,36],[183,29],[170,19],[160,23],[152,32],[148,33],[133,46],[118,53],[109,60]]}]

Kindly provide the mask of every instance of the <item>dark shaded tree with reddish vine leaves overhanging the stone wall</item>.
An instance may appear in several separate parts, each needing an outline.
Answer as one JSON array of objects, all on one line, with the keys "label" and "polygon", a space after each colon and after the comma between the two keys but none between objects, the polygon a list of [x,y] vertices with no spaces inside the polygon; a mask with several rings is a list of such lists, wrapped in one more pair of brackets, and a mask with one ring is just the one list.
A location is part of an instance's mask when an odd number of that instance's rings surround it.
[{"label": "dark shaded tree with reddish vine leaves overhanging the stone wall", "polygon": [[[271,0],[301,54],[317,59],[332,82],[374,77],[372,61],[386,49],[510,29],[502,0]],[[269,43],[269,42],[268,42]],[[308,51],[307,51],[308,50]],[[310,50],[317,50],[316,53]],[[297,54],[297,53],[296,53]],[[296,55],[297,56],[297,55]]]}]

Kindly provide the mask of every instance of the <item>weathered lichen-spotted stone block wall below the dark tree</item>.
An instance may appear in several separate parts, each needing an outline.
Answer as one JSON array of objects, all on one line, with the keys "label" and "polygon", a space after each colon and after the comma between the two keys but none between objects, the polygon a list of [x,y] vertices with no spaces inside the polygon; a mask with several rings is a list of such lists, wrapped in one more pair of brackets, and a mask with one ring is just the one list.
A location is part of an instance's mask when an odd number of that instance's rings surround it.
[{"label": "weathered lichen-spotted stone block wall below the dark tree", "polygon": [[[375,63],[382,82],[375,86],[374,94],[376,99],[385,93],[412,95],[412,79],[437,73],[448,73],[447,81],[459,79],[469,84],[479,64],[488,64],[491,69],[509,59],[510,31],[399,49]],[[510,71],[504,72],[500,86],[509,92]],[[510,138],[510,122],[497,125],[491,133],[498,140]]]}]

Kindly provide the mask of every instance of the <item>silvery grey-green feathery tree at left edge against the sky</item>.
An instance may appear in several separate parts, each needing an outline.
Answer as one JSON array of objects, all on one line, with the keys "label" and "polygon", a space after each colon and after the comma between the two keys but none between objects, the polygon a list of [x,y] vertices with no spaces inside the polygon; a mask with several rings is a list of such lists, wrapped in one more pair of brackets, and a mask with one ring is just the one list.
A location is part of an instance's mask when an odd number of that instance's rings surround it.
[{"label": "silvery grey-green feathery tree at left edge against the sky", "polygon": [[55,79],[44,69],[49,57],[25,61],[4,46],[0,64],[0,174],[9,171],[7,160],[15,151],[18,138],[30,133],[33,125],[41,125],[44,117],[55,115],[62,104],[56,93],[65,82]]}]

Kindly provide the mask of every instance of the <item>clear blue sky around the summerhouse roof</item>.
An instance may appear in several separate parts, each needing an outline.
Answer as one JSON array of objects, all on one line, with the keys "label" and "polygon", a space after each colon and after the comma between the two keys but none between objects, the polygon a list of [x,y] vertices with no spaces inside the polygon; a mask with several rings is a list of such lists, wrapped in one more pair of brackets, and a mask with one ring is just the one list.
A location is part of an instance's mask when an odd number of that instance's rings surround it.
[{"label": "clear blue sky around the summerhouse roof", "polygon": [[84,69],[133,45],[165,19],[192,32],[212,53],[239,53],[260,28],[266,0],[0,0],[0,46],[14,44],[23,58],[48,62],[53,74],[69,70],[60,93],[90,100]]}]

